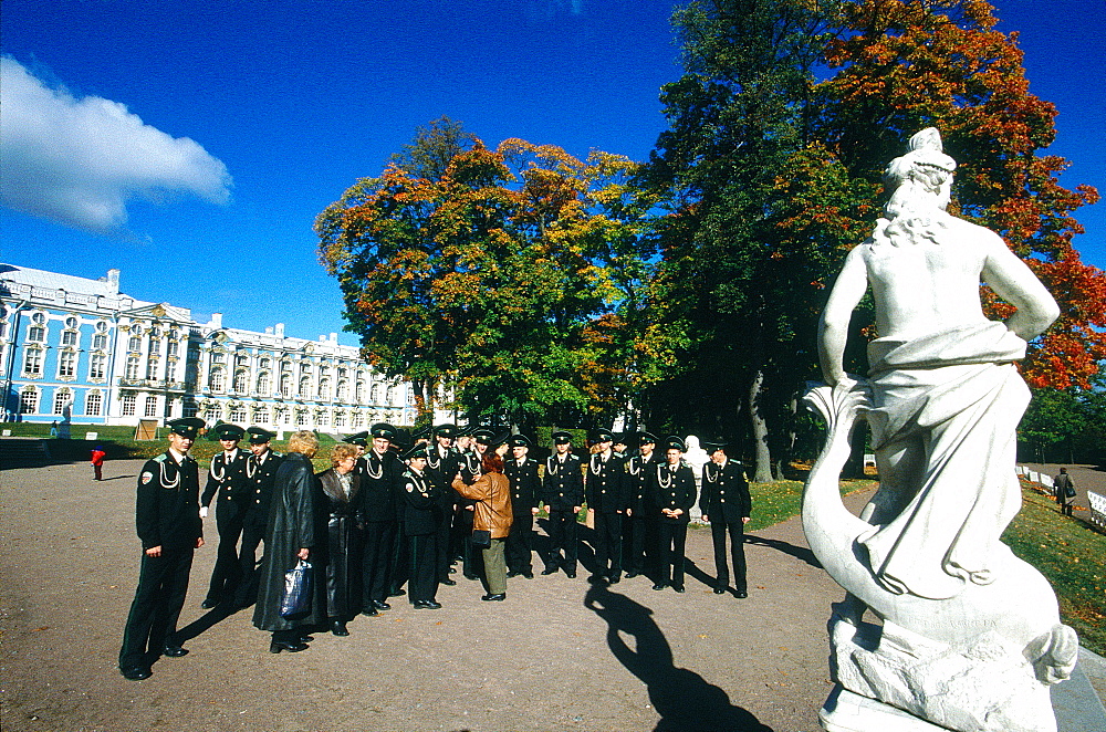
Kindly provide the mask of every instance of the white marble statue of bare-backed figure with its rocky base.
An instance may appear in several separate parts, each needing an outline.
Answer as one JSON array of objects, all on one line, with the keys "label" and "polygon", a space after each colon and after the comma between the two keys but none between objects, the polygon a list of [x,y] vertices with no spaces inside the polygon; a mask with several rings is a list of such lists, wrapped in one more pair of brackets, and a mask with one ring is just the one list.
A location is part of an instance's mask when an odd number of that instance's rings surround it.
[{"label": "white marble statue of bare-backed figure with its rocky base", "polygon": [[[830,621],[832,732],[1055,730],[1048,684],[1078,652],[1047,581],[999,541],[1021,506],[1014,430],[1029,389],[1014,362],[1060,311],[999,236],[946,211],[954,169],[937,129],[910,139],[885,174],[884,217],[847,255],[822,316],[826,385],[806,401],[830,431],[803,527],[848,592]],[[988,320],[980,282],[1016,312]],[[878,337],[863,378],[842,359],[869,289]],[[860,419],[880,482],[856,517],[837,480]]]}]

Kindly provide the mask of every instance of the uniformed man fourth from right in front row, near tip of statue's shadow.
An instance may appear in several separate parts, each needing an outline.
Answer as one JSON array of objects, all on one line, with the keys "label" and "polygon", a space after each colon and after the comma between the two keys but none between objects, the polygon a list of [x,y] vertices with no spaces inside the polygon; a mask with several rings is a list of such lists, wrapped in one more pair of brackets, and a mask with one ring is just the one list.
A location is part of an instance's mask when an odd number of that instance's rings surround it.
[{"label": "uniformed man fourth from right in front row, near tip of statue's shadow", "polygon": [[587,508],[595,517],[595,574],[593,581],[611,584],[622,578],[622,521],[629,504],[625,459],[612,450],[614,436],[609,430],[592,430],[589,436],[596,452],[587,461],[584,489]]}]

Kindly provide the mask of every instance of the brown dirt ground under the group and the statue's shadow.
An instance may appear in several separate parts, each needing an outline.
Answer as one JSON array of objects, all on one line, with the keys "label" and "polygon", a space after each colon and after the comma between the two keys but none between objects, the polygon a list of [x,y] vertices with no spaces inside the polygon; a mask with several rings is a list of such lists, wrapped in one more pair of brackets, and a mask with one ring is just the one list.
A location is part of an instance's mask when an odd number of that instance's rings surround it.
[{"label": "brown dirt ground under the group and the statue's shadow", "polygon": [[[268,652],[251,611],[199,604],[216,556],[197,552],[184,658],[117,670],[139,546],[140,461],[0,472],[0,726],[38,730],[718,730],[815,732],[831,690],[825,623],[842,590],[797,520],[747,537],[750,596],[713,595],[710,532],[689,532],[687,594],[645,577],[593,587],[582,568],[441,587],[440,610],[395,598],[351,636]],[[865,494],[851,496],[854,510]],[[535,557],[535,567],[541,569]]]}]

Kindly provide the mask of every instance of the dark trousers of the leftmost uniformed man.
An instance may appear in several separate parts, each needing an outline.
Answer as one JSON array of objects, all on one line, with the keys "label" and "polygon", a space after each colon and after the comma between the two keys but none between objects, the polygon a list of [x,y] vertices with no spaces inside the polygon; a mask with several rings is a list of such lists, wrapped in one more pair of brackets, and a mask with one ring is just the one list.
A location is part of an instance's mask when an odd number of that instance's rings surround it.
[{"label": "dark trousers of the leftmost uniformed man", "polygon": [[123,630],[119,668],[145,667],[155,660],[177,630],[177,618],[188,593],[194,548],[161,550],[161,556],[142,555],[138,587]]}]

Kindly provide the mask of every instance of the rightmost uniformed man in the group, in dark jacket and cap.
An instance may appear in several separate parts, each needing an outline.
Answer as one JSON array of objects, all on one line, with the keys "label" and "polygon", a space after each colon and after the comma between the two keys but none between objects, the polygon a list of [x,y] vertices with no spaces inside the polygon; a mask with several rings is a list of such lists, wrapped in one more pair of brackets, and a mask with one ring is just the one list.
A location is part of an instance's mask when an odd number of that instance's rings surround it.
[{"label": "rightmost uniformed man in the group, in dark jacket and cap", "polygon": [[733,586],[738,597],[749,597],[745,585],[745,524],[752,509],[749,481],[743,466],[730,460],[726,442],[708,442],[710,462],[702,468],[702,520],[710,523],[714,540],[714,568],[718,579],[714,594],[721,595],[730,584],[730,569],[726,564],[726,533],[730,533],[730,552],[733,558]]}]

